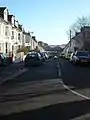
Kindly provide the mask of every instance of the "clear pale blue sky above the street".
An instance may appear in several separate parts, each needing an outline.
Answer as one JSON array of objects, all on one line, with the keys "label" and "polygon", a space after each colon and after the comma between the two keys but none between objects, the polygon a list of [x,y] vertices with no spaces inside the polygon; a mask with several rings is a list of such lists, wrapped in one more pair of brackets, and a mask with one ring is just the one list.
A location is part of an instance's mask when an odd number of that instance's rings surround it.
[{"label": "clear pale blue sky above the street", "polygon": [[38,41],[50,45],[68,42],[66,31],[77,17],[90,16],[90,0],[0,0]]}]

